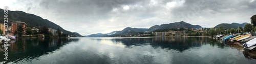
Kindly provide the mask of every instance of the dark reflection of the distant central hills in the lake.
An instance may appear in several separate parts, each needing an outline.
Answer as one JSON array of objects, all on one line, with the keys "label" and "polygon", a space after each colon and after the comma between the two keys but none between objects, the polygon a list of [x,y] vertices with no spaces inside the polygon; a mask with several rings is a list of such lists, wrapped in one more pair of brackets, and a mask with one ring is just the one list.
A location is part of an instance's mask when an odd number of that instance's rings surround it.
[{"label": "dark reflection of the distant central hills in the lake", "polygon": [[[100,41],[99,39],[97,39]],[[110,39],[113,43],[122,43],[126,48],[151,45],[154,48],[174,49],[180,52],[193,47],[200,47],[204,44],[224,48],[225,44],[208,37],[154,37],[154,38],[125,38]]]}]

